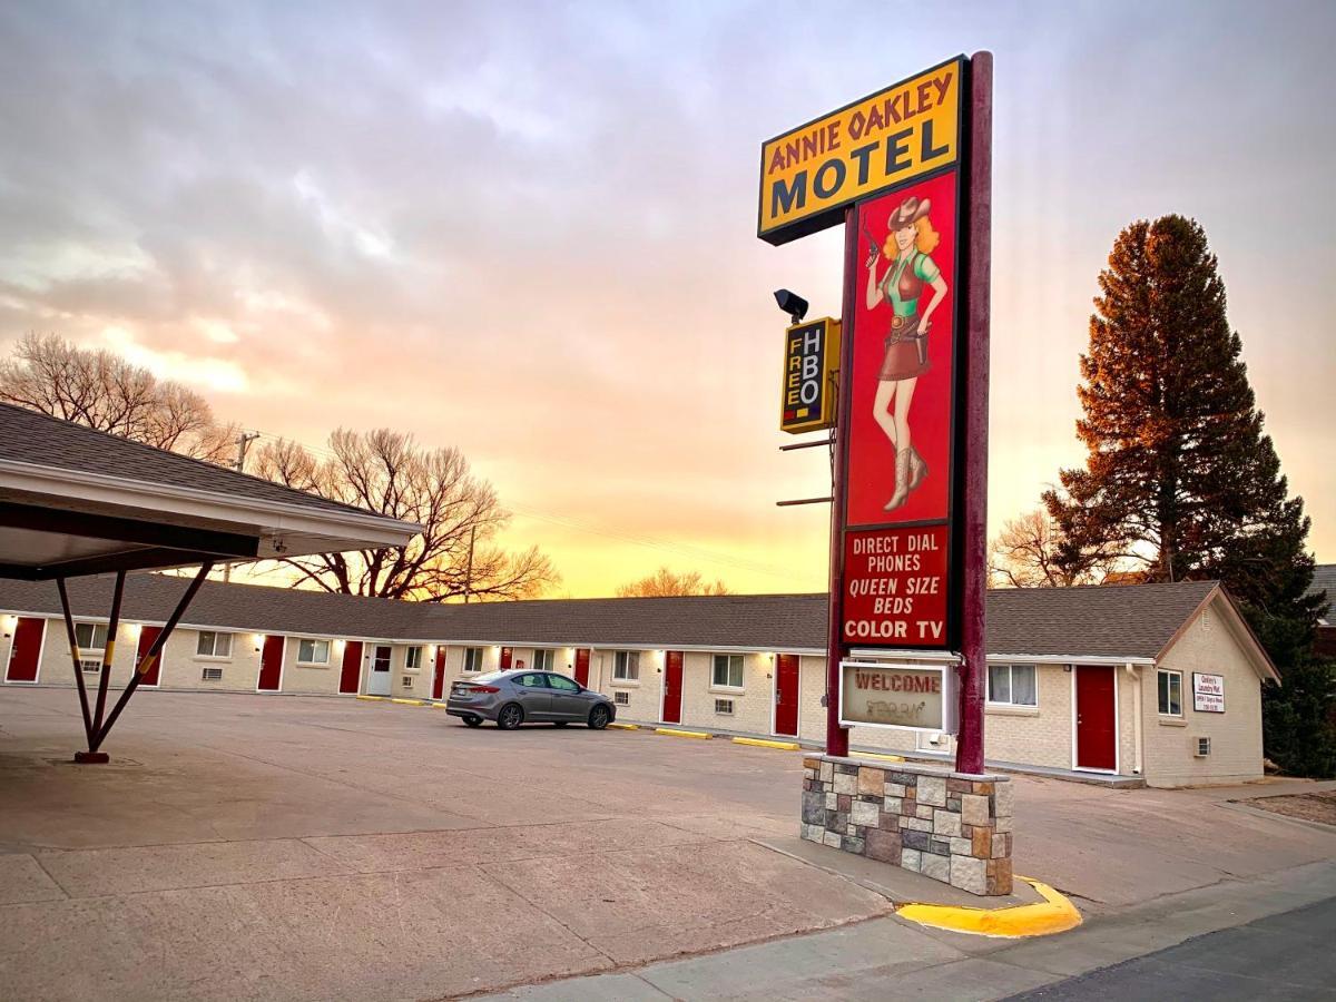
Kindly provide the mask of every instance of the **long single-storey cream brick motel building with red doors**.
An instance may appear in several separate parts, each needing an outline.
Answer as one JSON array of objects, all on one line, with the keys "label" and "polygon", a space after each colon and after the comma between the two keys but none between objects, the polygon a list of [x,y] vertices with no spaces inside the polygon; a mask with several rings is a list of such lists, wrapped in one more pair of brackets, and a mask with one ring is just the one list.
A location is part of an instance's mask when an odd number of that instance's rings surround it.
[{"label": "long single-storey cream brick motel building with red doors", "polygon": [[[90,676],[107,649],[111,584],[69,582]],[[180,587],[130,576],[114,687]],[[415,605],[210,581],[140,688],[444,700],[456,679],[524,667],[608,693],[624,721],[822,745],[826,616],[824,595]],[[990,766],[1157,787],[1263,775],[1261,685],[1279,676],[1218,584],[994,591],[987,644]],[[73,685],[52,582],[0,580],[0,664],[7,687]],[[925,760],[954,752],[933,731],[855,727],[851,744]]]}]

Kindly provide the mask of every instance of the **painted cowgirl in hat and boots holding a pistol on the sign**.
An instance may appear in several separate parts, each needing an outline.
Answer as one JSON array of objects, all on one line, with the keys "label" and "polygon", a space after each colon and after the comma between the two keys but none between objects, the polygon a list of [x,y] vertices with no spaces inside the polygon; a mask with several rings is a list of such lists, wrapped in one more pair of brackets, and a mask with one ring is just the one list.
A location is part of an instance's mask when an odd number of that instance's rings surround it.
[{"label": "painted cowgirl in hat and boots holding a pistol on the sign", "polygon": [[[878,373],[872,417],[895,448],[895,493],[884,510],[894,512],[927,477],[927,464],[910,438],[910,403],[918,377],[929,370],[929,318],[946,295],[942,270],[929,257],[942,239],[929,219],[931,203],[912,195],[891,212],[890,234],[880,251],[874,246],[867,259],[867,309],[883,301],[891,307],[891,331],[886,335],[886,359]],[[878,281],[878,258],[890,259]],[[927,306],[923,291],[931,289]]]}]

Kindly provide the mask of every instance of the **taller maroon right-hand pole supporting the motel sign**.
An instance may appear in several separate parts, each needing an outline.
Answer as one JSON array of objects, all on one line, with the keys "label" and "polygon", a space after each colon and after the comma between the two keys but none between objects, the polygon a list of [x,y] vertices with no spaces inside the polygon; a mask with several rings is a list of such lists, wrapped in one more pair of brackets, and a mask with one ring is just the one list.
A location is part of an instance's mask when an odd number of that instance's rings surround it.
[{"label": "taller maroon right-hand pole supporting the motel sign", "polygon": [[965,361],[965,489],[962,492],[963,616],[958,772],[983,772],[983,672],[987,671],[989,277],[993,231],[993,53],[970,60],[969,333]]}]

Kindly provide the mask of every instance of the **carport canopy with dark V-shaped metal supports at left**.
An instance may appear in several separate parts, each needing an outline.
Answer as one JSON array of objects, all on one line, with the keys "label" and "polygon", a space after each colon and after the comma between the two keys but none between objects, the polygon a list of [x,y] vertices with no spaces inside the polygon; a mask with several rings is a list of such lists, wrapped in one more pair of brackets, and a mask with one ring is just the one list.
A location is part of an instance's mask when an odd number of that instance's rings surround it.
[{"label": "carport canopy with dark V-shaped metal supports at left", "polygon": [[[88,735],[106,739],[215,562],[403,546],[413,522],[0,403],[0,577],[55,580]],[[198,566],[175,613],[103,719],[124,577]],[[64,581],[115,573],[96,707],[88,705]]]}]

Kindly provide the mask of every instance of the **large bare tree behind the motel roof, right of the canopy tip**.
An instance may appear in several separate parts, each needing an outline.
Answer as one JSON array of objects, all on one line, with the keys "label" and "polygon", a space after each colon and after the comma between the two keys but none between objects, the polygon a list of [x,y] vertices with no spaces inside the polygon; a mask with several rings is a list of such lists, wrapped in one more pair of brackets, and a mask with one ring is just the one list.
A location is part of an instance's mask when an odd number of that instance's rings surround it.
[{"label": "large bare tree behind the motel roof, right of the canopy tip", "polygon": [[457,449],[422,449],[389,429],[330,436],[327,458],[301,445],[267,442],[257,473],[331,501],[418,522],[407,546],[325,553],[281,561],[311,584],[342,595],[411,601],[528,599],[560,580],[537,548],[508,553],[493,545],[509,521],[492,485],[469,473]]}]

